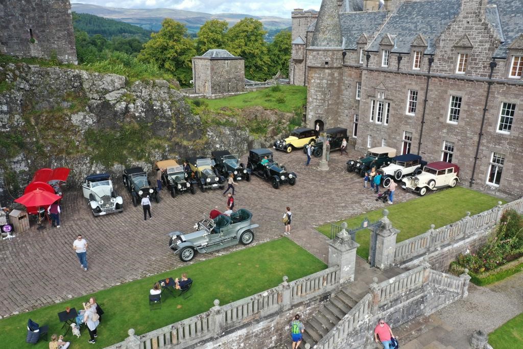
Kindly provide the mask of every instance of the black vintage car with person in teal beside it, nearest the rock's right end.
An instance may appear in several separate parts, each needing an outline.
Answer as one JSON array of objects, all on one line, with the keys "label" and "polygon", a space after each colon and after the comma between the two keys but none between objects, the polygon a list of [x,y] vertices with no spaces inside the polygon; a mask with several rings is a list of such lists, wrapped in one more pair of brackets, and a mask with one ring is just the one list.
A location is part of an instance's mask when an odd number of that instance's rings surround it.
[{"label": "black vintage car with person in teal beside it, nearest the rock's right end", "polygon": [[[267,162],[262,161],[267,156]],[[247,168],[252,173],[265,181],[271,181],[272,187],[278,189],[281,184],[289,183],[296,184],[296,174],[288,172],[283,165],[279,165],[272,159],[272,152],[268,149],[251,149],[249,151],[249,159],[247,160]]]}]

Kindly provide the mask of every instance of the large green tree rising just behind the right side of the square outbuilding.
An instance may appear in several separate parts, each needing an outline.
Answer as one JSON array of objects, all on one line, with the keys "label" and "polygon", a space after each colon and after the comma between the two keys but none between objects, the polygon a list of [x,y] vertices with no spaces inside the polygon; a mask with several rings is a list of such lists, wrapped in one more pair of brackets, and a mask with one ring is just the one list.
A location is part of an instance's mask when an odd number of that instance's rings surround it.
[{"label": "large green tree rising just behind the right side of the square outbuilding", "polygon": [[245,58],[245,77],[265,81],[270,77],[269,55],[264,36],[267,32],[254,18],[244,18],[227,32],[227,49],[236,56]]}]

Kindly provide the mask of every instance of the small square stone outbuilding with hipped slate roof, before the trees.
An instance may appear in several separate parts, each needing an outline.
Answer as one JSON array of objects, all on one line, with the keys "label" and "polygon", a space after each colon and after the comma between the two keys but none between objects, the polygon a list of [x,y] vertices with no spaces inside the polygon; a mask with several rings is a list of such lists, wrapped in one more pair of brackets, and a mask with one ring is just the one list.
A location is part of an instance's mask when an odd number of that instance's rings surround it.
[{"label": "small square stone outbuilding with hipped slate roof, before the trees", "polygon": [[227,50],[213,49],[192,58],[195,93],[217,95],[245,89],[245,60]]}]

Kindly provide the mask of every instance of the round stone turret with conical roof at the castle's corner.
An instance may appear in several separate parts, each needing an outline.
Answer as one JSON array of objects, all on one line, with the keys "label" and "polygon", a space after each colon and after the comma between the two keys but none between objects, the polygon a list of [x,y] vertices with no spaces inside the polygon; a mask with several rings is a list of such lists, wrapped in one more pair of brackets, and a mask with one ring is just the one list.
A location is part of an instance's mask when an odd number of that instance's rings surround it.
[{"label": "round stone turret with conical roof at the castle's corner", "polygon": [[338,126],[342,89],[343,38],[337,0],[323,0],[307,48],[307,123]]}]

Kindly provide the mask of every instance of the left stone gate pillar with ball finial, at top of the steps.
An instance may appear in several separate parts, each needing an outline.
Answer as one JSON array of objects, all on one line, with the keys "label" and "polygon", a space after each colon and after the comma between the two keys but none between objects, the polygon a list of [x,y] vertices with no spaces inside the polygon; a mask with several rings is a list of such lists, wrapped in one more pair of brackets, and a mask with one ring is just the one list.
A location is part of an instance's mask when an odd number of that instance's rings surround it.
[{"label": "left stone gate pillar with ball finial, at top of the steps", "polygon": [[[325,154],[325,153],[324,153]],[[353,241],[347,233],[347,223],[342,223],[342,231],[336,234],[336,238],[327,241],[328,244],[328,266],[335,265],[340,269],[340,283],[353,282],[356,270],[356,249],[359,244]]]}]

